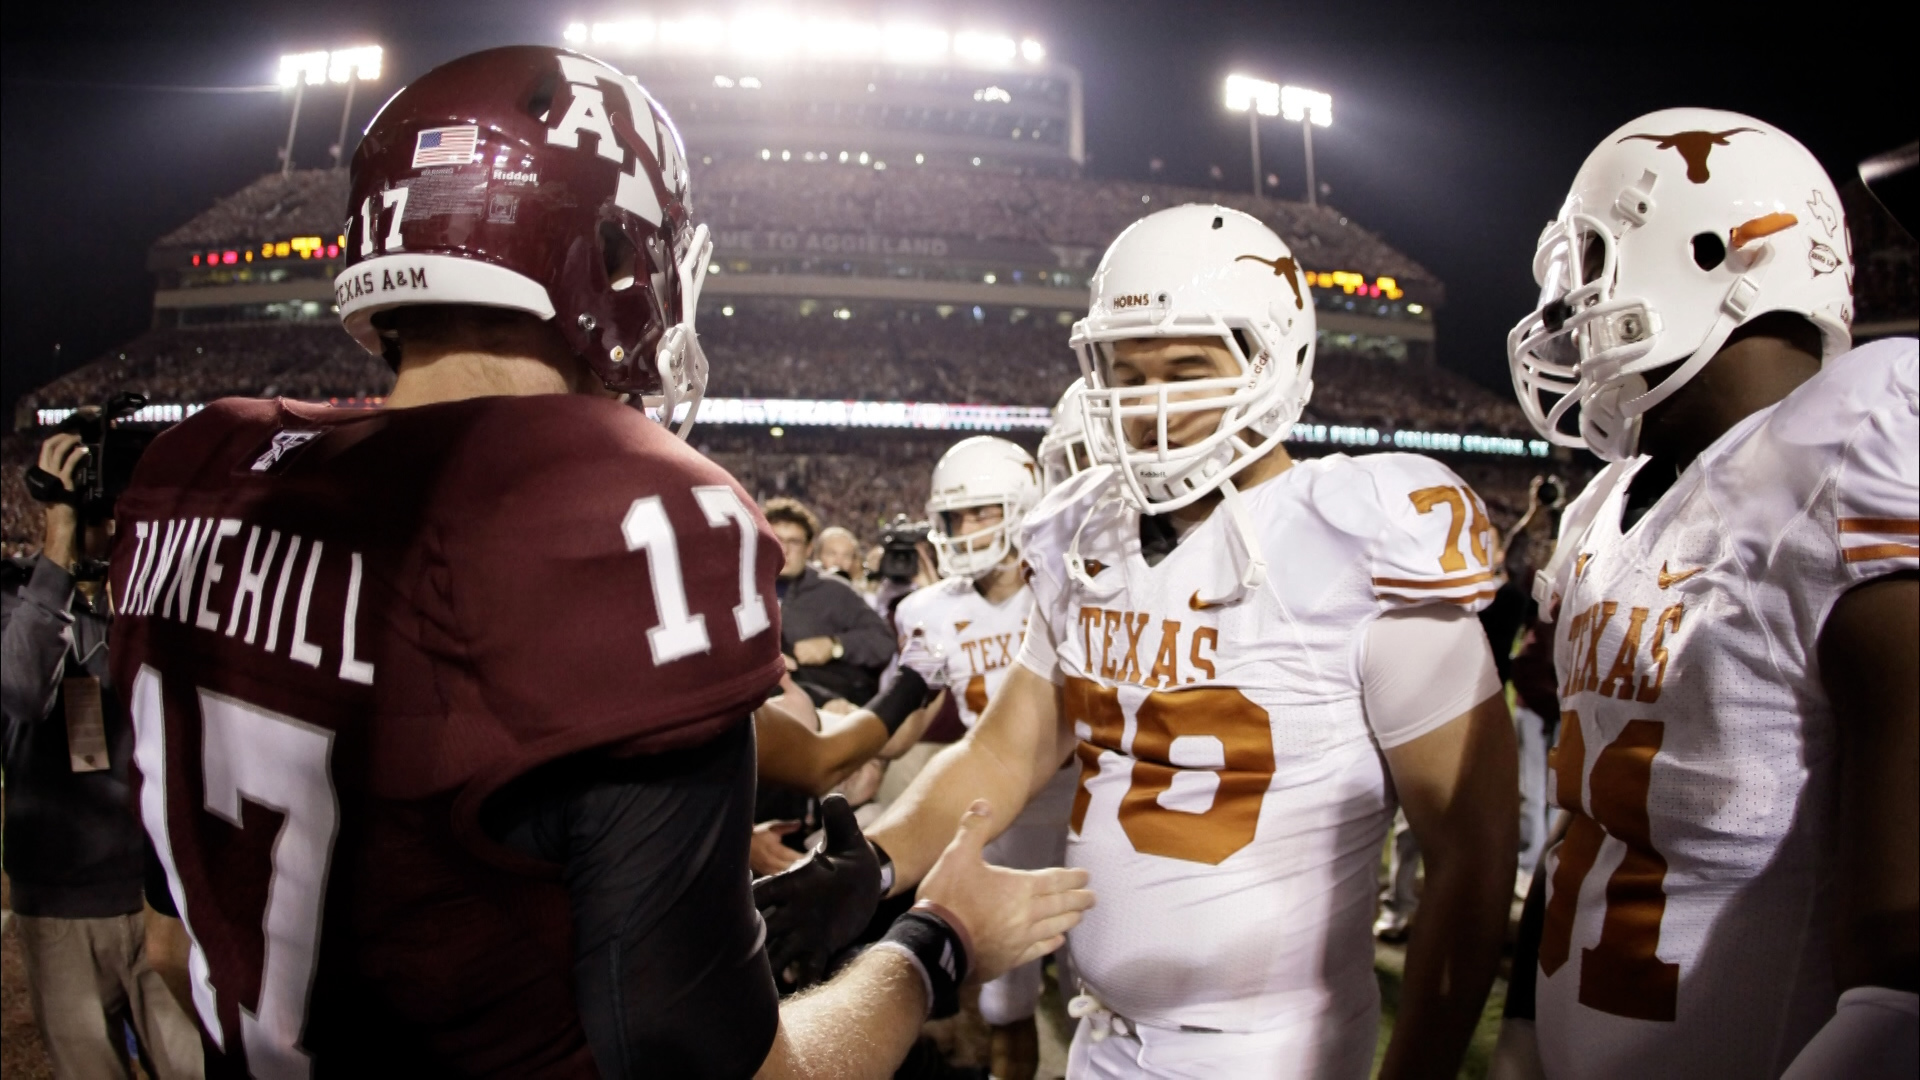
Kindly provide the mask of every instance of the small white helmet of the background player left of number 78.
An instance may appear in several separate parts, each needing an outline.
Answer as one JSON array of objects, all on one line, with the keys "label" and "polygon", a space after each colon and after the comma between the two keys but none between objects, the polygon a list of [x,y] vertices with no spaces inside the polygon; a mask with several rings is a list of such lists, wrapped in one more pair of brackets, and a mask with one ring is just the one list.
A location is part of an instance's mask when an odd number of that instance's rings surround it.
[{"label": "small white helmet of the background player left of number 78", "polygon": [[[933,494],[927,542],[939,559],[941,577],[993,573],[1014,552],[1014,536],[1027,511],[1041,502],[1041,467],[1004,438],[975,434],[941,455],[933,467]],[[956,534],[958,511],[998,505],[1000,523],[977,532]]]}]

